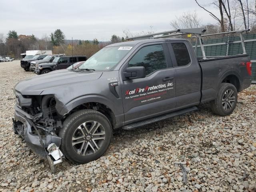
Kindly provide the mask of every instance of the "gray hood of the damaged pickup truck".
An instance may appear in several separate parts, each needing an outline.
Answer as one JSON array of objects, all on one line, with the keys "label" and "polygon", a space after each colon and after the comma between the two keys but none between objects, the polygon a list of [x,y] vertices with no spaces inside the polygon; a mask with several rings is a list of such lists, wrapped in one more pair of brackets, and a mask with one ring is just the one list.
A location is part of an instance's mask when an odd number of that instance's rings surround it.
[{"label": "gray hood of the damaged pickup truck", "polygon": [[40,95],[42,91],[47,89],[93,81],[100,78],[101,75],[102,72],[72,72],[67,69],[56,70],[21,80],[15,85],[14,89],[22,95]]}]

